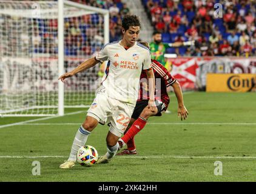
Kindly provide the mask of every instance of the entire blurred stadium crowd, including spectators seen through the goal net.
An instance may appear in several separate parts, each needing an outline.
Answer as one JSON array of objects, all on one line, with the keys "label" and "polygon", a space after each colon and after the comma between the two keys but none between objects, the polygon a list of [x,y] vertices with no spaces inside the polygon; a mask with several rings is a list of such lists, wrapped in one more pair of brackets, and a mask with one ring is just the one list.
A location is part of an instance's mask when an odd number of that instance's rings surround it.
[{"label": "entire blurred stadium crowd, including spectators seen through the goal net", "polygon": [[[110,42],[121,39],[121,19],[130,10],[121,0],[72,0],[81,4],[106,8],[110,11]],[[254,0],[141,0],[154,27],[161,32],[163,42],[195,40],[195,46],[168,48],[166,53],[180,56],[256,56],[256,2]],[[217,12],[219,5],[223,12]],[[218,7],[214,7],[215,5]],[[220,7],[221,8],[221,7]],[[218,13],[219,17],[215,17]],[[222,15],[221,15],[222,13]],[[6,21],[5,21],[6,20]],[[10,53],[31,53],[29,41],[33,41],[34,53],[58,52],[58,22],[56,19],[33,19],[33,37],[21,30],[10,30],[21,25],[13,19],[1,18],[0,47]],[[2,21],[2,22],[1,22]],[[25,21],[24,19],[24,22]],[[93,55],[104,44],[103,17],[92,14],[64,19],[66,55]],[[5,24],[6,23],[6,24]],[[17,28],[18,29],[18,28]],[[41,30],[39,30],[41,29]],[[49,31],[50,30],[50,31]],[[10,32],[9,32],[10,31]],[[12,35],[18,33],[16,42]],[[21,39],[21,41],[19,41]],[[11,41],[10,41],[11,40]],[[28,45],[27,47],[25,45]],[[13,55],[13,54],[12,54]]]}]

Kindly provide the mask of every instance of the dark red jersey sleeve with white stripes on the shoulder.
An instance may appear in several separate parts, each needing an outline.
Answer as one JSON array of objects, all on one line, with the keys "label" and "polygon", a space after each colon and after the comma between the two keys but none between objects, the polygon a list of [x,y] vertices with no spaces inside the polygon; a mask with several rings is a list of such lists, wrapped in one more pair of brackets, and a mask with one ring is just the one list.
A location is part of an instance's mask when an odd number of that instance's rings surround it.
[{"label": "dark red jersey sleeve with white stripes on the shoulder", "polygon": [[152,67],[153,69],[164,79],[166,87],[172,85],[176,79],[170,75],[170,72],[157,60],[152,60]]}]

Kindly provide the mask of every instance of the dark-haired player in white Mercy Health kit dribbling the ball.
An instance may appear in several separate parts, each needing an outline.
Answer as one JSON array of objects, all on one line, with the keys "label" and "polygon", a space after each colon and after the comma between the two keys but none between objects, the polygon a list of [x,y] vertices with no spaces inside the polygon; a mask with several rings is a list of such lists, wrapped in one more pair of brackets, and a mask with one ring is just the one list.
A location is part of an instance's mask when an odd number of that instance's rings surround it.
[{"label": "dark-haired player in white Mercy Health kit dribbling the ball", "polygon": [[140,34],[140,20],[135,15],[126,15],[122,21],[123,39],[104,45],[103,49],[94,58],[87,59],[71,72],[60,76],[64,79],[82,72],[99,62],[109,61],[106,75],[103,77],[96,98],[94,99],[87,116],[73,140],[69,159],[61,164],[61,169],[70,169],[75,166],[76,153],[86,144],[87,138],[98,123],[110,121],[107,134],[107,153],[98,159],[99,163],[107,163],[118,151],[118,139],[126,130],[138,97],[138,86],[141,70],[147,70],[149,79],[149,108],[157,112],[155,106],[155,77],[152,70],[150,50],[136,42]]}]

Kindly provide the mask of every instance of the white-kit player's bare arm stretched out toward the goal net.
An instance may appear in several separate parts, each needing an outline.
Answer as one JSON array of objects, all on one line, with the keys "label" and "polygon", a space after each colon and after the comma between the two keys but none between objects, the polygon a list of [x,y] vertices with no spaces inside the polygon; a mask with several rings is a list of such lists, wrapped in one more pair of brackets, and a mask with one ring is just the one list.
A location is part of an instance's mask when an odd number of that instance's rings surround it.
[{"label": "white-kit player's bare arm stretched out toward the goal net", "polygon": [[64,82],[64,79],[69,78],[69,77],[75,75],[76,73],[83,72],[84,70],[87,70],[90,67],[93,67],[94,65],[96,65],[98,63],[99,63],[99,61],[97,61],[94,57],[87,59],[86,61],[84,61],[80,65],[78,65],[78,67],[73,69],[71,72],[67,72],[67,73],[64,73],[63,75],[61,75],[59,77],[59,79],[61,79],[61,81]]}]

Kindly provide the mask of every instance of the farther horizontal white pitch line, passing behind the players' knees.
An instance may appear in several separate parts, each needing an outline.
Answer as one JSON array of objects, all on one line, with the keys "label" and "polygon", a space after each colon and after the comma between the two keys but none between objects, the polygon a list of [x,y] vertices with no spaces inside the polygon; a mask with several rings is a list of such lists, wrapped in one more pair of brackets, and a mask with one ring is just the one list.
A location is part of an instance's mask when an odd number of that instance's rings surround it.
[{"label": "farther horizontal white pitch line, passing behind the players' knees", "polygon": [[[20,125],[81,125],[81,122],[24,123]],[[147,125],[256,125],[256,122],[148,122]]]}]

